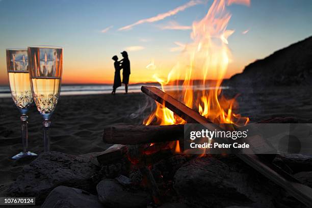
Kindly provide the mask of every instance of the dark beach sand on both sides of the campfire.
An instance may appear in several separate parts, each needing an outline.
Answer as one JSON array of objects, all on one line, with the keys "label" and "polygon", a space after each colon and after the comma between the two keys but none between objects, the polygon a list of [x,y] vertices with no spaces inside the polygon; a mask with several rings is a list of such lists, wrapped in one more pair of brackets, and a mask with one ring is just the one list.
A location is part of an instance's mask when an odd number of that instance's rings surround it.
[{"label": "dark beach sand on both sides of the campfire", "polygon": [[[237,94],[229,90],[225,94]],[[312,121],[309,87],[243,89],[238,97],[239,112],[252,122],[272,117],[292,116],[300,122]],[[63,96],[51,119],[52,151],[69,154],[99,152],[108,148],[102,130],[112,124],[141,124],[154,106],[143,93]],[[29,150],[43,150],[42,118],[35,106],[29,112]],[[33,159],[13,161],[21,151],[19,112],[11,98],[0,99],[0,190],[19,175]]]}]

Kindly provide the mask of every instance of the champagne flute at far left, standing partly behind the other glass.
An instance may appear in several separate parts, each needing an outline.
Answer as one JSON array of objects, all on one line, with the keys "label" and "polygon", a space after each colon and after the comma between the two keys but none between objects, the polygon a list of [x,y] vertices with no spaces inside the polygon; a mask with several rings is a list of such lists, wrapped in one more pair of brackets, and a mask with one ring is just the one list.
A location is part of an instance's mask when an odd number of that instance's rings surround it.
[{"label": "champagne flute at far left, standing partly behind the other glass", "polygon": [[12,157],[13,160],[35,156],[28,151],[28,116],[27,112],[33,103],[28,71],[27,49],[7,49],[7,70],[13,101],[21,116],[21,138],[23,150]]}]

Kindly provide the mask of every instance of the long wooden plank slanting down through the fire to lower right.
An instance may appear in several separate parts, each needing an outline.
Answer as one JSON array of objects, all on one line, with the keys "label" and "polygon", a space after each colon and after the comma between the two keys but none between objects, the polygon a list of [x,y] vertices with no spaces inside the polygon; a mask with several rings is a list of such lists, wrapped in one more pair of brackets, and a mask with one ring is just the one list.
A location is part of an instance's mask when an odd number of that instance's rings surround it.
[{"label": "long wooden plank slanting down through the fire to lower right", "polygon": [[[170,109],[173,113],[186,120],[188,123],[211,123],[198,112],[190,109],[158,88],[142,86],[141,90],[149,97],[158,101],[166,108]],[[216,129],[220,129],[220,127],[216,125]],[[288,173],[265,160],[261,160],[255,154],[236,154],[236,156],[256,171],[263,174],[280,187],[284,188],[299,201],[308,207],[312,207],[312,189],[310,187],[301,184],[297,179],[293,178]]]}]

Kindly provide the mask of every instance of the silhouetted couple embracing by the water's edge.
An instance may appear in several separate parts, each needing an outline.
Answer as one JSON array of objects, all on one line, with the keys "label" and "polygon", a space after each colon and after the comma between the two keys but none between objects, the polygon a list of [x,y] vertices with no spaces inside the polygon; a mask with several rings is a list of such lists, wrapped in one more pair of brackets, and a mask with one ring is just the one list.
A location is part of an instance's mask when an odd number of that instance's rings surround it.
[{"label": "silhouetted couple embracing by the water's edge", "polygon": [[[124,84],[125,94],[128,93],[128,83],[129,83],[129,76],[130,76],[130,61],[128,58],[127,51],[122,51],[120,53],[123,57],[120,61],[118,61],[118,57],[115,55],[113,56],[114,67],[115,67],[115,76],[114,76],[114,85],[112,94],[116,94],[117,87],[121,86],[121,83]],[[120,78],[120,70],[122,69],[122,82]]]}]

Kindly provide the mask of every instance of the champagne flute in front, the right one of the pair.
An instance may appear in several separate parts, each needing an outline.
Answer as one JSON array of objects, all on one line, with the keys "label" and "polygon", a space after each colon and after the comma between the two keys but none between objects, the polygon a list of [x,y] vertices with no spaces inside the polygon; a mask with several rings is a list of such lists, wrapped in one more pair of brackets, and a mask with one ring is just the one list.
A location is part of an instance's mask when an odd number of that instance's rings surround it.
[{"label": "champagne flute in front, the right one of the pair", "polygon": [[31,88],[39,113],[43,117],[44,151],[49,151],[48,128],[61,90],[63,48],[54,46],[28,47]]}]

